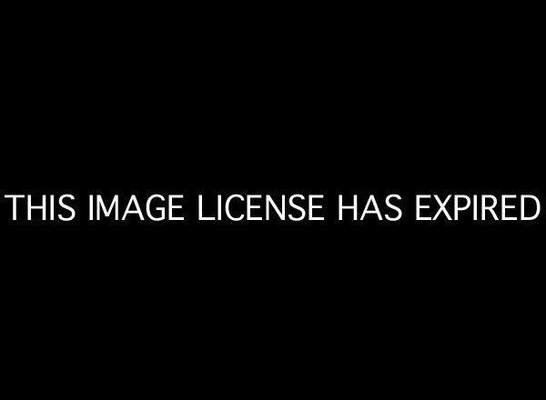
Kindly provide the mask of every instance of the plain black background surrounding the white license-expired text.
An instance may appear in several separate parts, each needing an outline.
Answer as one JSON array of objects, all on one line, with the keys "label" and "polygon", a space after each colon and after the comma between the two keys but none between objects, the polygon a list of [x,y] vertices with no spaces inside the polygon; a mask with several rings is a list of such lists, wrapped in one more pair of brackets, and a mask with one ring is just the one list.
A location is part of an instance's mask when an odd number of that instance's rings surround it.
[{"label": "plain black background surrounding the white license-expired text", "polygon": [[[3,50],[2,194],[324,193],[329,221],[4,219],[10,374],[153,392],[521,390],[541,354],[543,216],[419,224],[412,198],[543,201],[539,26],[225,11],[27,10]],[[389,193],[408,204],[399,224],[335,222],[336,195]]]}]

